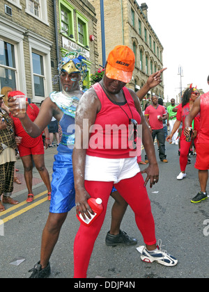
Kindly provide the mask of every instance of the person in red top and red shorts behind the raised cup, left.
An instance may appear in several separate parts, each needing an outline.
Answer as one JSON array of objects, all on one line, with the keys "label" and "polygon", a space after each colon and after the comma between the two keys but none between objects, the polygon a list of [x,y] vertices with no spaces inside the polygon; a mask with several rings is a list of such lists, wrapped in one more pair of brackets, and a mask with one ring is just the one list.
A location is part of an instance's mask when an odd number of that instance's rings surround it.
[{"label": "person in red top and red shorts behind the raised cup, left", "polygon": [[[24,93],[20,91],[12,91],[8,93],[8,97],[14,97],[15,95],[24,95]],[[34,121],[38,115],[39,108],[36,104],[28,104],[26,105],[26,113],[29,115],[30,119]],[[31,138],[28,133],[22,127],[20,120],[17,117],[13,117],[15,134],[20,138],[20,143],[18,143],[18,151],[20,153],[20,157],[22,159],[22,163],[24,166],[24,179],[26,181],[26,187],[28,188],[28,197],[26,202],[33,202],[33,192],[32,192],[32,179],[33,179],[33,161],[38,170],[42,181],[45,183],[45,186],[48,190],[48,200],[51,200],[51,184],[49,179],[49,172],[47,168],[45,168],[45,160],[44,160],[44,145],[42,143],[42,135],[37,138]],[[45,129],[47,131],[47,129]],[[45,147],[47,148],[50,140],[49,133],[45,133],[47,137],[45,139]]]}]

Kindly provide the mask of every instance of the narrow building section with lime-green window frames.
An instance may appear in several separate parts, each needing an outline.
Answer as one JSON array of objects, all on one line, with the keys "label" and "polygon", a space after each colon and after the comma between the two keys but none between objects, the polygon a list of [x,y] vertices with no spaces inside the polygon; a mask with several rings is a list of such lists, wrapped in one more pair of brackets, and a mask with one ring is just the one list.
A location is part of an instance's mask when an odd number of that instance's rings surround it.
[{"label": "narrow building section with lime-green window frames", "polygon": [[89,88],[91,72],[98,67],[97,19],[95,8],[87,0],[59,0],[59,47],[65,51],[81,51],[86,57]]}]

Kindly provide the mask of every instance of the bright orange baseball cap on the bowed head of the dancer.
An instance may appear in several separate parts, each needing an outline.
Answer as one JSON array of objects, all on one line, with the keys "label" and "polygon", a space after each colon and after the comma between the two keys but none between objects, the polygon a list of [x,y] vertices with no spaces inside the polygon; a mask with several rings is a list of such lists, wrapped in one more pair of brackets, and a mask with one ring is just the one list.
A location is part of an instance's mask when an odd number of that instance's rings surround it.
[{"label": "bright orange baseball cap on the bowed head of the dancer", "polygon": [[110,79],[130,82],[134,71],[134,52],[127,46],[116,46],[107,58],[105,74]]}]

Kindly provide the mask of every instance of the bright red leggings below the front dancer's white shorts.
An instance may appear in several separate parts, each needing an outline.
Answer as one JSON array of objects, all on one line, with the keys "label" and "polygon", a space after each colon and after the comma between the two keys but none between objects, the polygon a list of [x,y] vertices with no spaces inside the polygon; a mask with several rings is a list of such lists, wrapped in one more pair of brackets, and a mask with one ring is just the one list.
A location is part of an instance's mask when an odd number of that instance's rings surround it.
[{"label": "bright red leggings below the front dancer's white shorts", "polygon": [[[102,227],[107,202],[113,186],[112,181],[85,181],[85,188],[91,197],[100,197],[104,206],[104,211],[93,222],[90,227],[80,225],[74,243],[74,277],[85,278],[88,263],[93,251],[93,245]],[[139,172],[130,179],[123,179],[114,185],[125,201],[130,205],[135,213],[135,220],[144,242],[147,245],[156,243],[155,222],[151,211],[150,200],[144,179]]]}]

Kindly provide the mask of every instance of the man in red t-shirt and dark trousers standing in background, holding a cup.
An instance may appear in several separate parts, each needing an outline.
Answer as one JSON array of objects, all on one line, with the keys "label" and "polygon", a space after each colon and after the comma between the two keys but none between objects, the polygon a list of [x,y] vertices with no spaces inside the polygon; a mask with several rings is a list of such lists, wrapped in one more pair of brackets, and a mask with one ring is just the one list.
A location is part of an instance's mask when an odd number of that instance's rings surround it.
[{"label": "man in red t-shirt and dark trousers standing in background, holding a cup", "polygon": [[[165,154],[165,138],[164,138],[164,129],[163,129],[163,120],[167,120],[167,113],[164,106],[158,104],[158,97],[156,95],[152,96],[152,104],[148,106],[144,113],[148,127],[155,140],[159,141],[159,158],[163,163],[167,163],[167,156]],[[147,157],[145,156],[145,162],[148,162]]]}]

